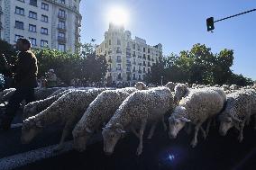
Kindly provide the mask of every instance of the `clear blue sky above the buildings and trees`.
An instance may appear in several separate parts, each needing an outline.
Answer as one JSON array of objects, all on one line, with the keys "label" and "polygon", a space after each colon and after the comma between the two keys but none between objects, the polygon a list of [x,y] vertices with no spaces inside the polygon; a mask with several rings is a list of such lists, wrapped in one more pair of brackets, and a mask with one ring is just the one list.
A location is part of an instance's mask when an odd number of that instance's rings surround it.
[{"label": "clear blue sky above the buildings and trees", "polygon": [[215,22],[215,31],[206,31],[206,18],[215,21],[256,8],[254,0],[81,0],[81,41],[96,44],[104,40],[108,13],[125,9],[129,22],[124,29],[145,39],[147,44],[161,43],[163,54],[178,54],[196,43],[206,44],[212,52],[233,49],[233,72],[256,80],[256,11],[223,22]]}]

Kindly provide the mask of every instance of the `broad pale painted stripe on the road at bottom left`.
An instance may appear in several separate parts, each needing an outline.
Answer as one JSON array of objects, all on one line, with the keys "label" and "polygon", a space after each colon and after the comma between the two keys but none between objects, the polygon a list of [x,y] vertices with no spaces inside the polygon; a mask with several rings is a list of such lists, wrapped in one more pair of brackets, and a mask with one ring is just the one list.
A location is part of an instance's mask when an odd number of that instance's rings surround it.
[{"label": "broad pale painted stripe on the road at bottom left", "polygon": [[4,157],[0,159],[1,170],[10,170],[20,166],[26,166],[35,161],[41,160],[43,158],[56,157],[60,154],[68,152],[72,149],[72,142],[68,141],[64,143],[63,150],[59,152],[54,152],[53,148],[57,145],[52,145],[50,147],[38,148],[25,153],[17,154],[10,157]]}]

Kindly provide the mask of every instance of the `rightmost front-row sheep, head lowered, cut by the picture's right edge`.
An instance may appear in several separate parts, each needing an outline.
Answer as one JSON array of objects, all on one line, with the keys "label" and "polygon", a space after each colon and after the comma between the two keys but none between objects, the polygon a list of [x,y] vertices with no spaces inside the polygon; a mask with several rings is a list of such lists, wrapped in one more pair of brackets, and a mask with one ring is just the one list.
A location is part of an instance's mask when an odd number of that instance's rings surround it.
[{"label": "rightmost front-row sheep, head lowered, cut by the picture's right edge", "polygon": [[[227,94],[227,102],[224,112],[219,116],[219,133],[225,136],[231,128],[239,130],[238,140],[242,142],[242,130],[251,114],[256,112],[256,92],[254,90],[241,90],[233,94]],[[255,115],[256,118],[256,115]],[[256,130],[256,126],[254,127]]]}]

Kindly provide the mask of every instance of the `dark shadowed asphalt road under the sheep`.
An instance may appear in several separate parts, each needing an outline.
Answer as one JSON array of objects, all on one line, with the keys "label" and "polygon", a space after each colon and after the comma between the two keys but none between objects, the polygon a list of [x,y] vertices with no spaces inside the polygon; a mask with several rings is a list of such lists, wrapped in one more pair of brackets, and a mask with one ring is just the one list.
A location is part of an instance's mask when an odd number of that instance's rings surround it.
[{"label": "dark shadowed asphalt road under the sheep", "polygon": [[[21,122],[19,116],[14,123]],[[153,138],[144,139],[143,152],[136,156],[138,139],[128,135],[121,139],[110,157],[103,152],[103,142],[100,136],[87,147],[83,153],[67,149],[66,152],[52,155],[48,158],[34,159],[23,166],[14,166],[15,169],[256,169],[256,131],[245,127],[242,143],[237,141],[236,130],[229,131],[226,137],[221,137],[215,127],[212,127],[209,136],[204,140],[199,133],[199,142],[196,148],[189,143],[192,135],[182,130],[178,139],[169,139],[167,132],[160,126]],[[36,156],[41,157],[48,146],[57,144],[60,138],[60,127],[50,127],[44,130],[31,144],[22,145],[20,142],[21,127],[8,132],[0,133],[0,169],[8,169],[4,165],[14,157],[18,164],[19,158],[24,158],[36,150]],[[146,132],[147,134],[147,132]],[[100,134],[98,134],[100,135]],[[69,138],[71,139],[71,137]],[[70,147],[70,146],[69,146]],[[46,149],[47,148],[47,149]],[[51,151],[47,151],[51,152]],[[33,155],[32,155],[33,156]],[[19,157],[19,158],[17,158]],[[26,159],[24,159],[26,160]],[[2,162],[1,162],[2,161]],[[9,163],[10,165],[10,163]],[[12,166],[9,166],[12,167]]]}]

